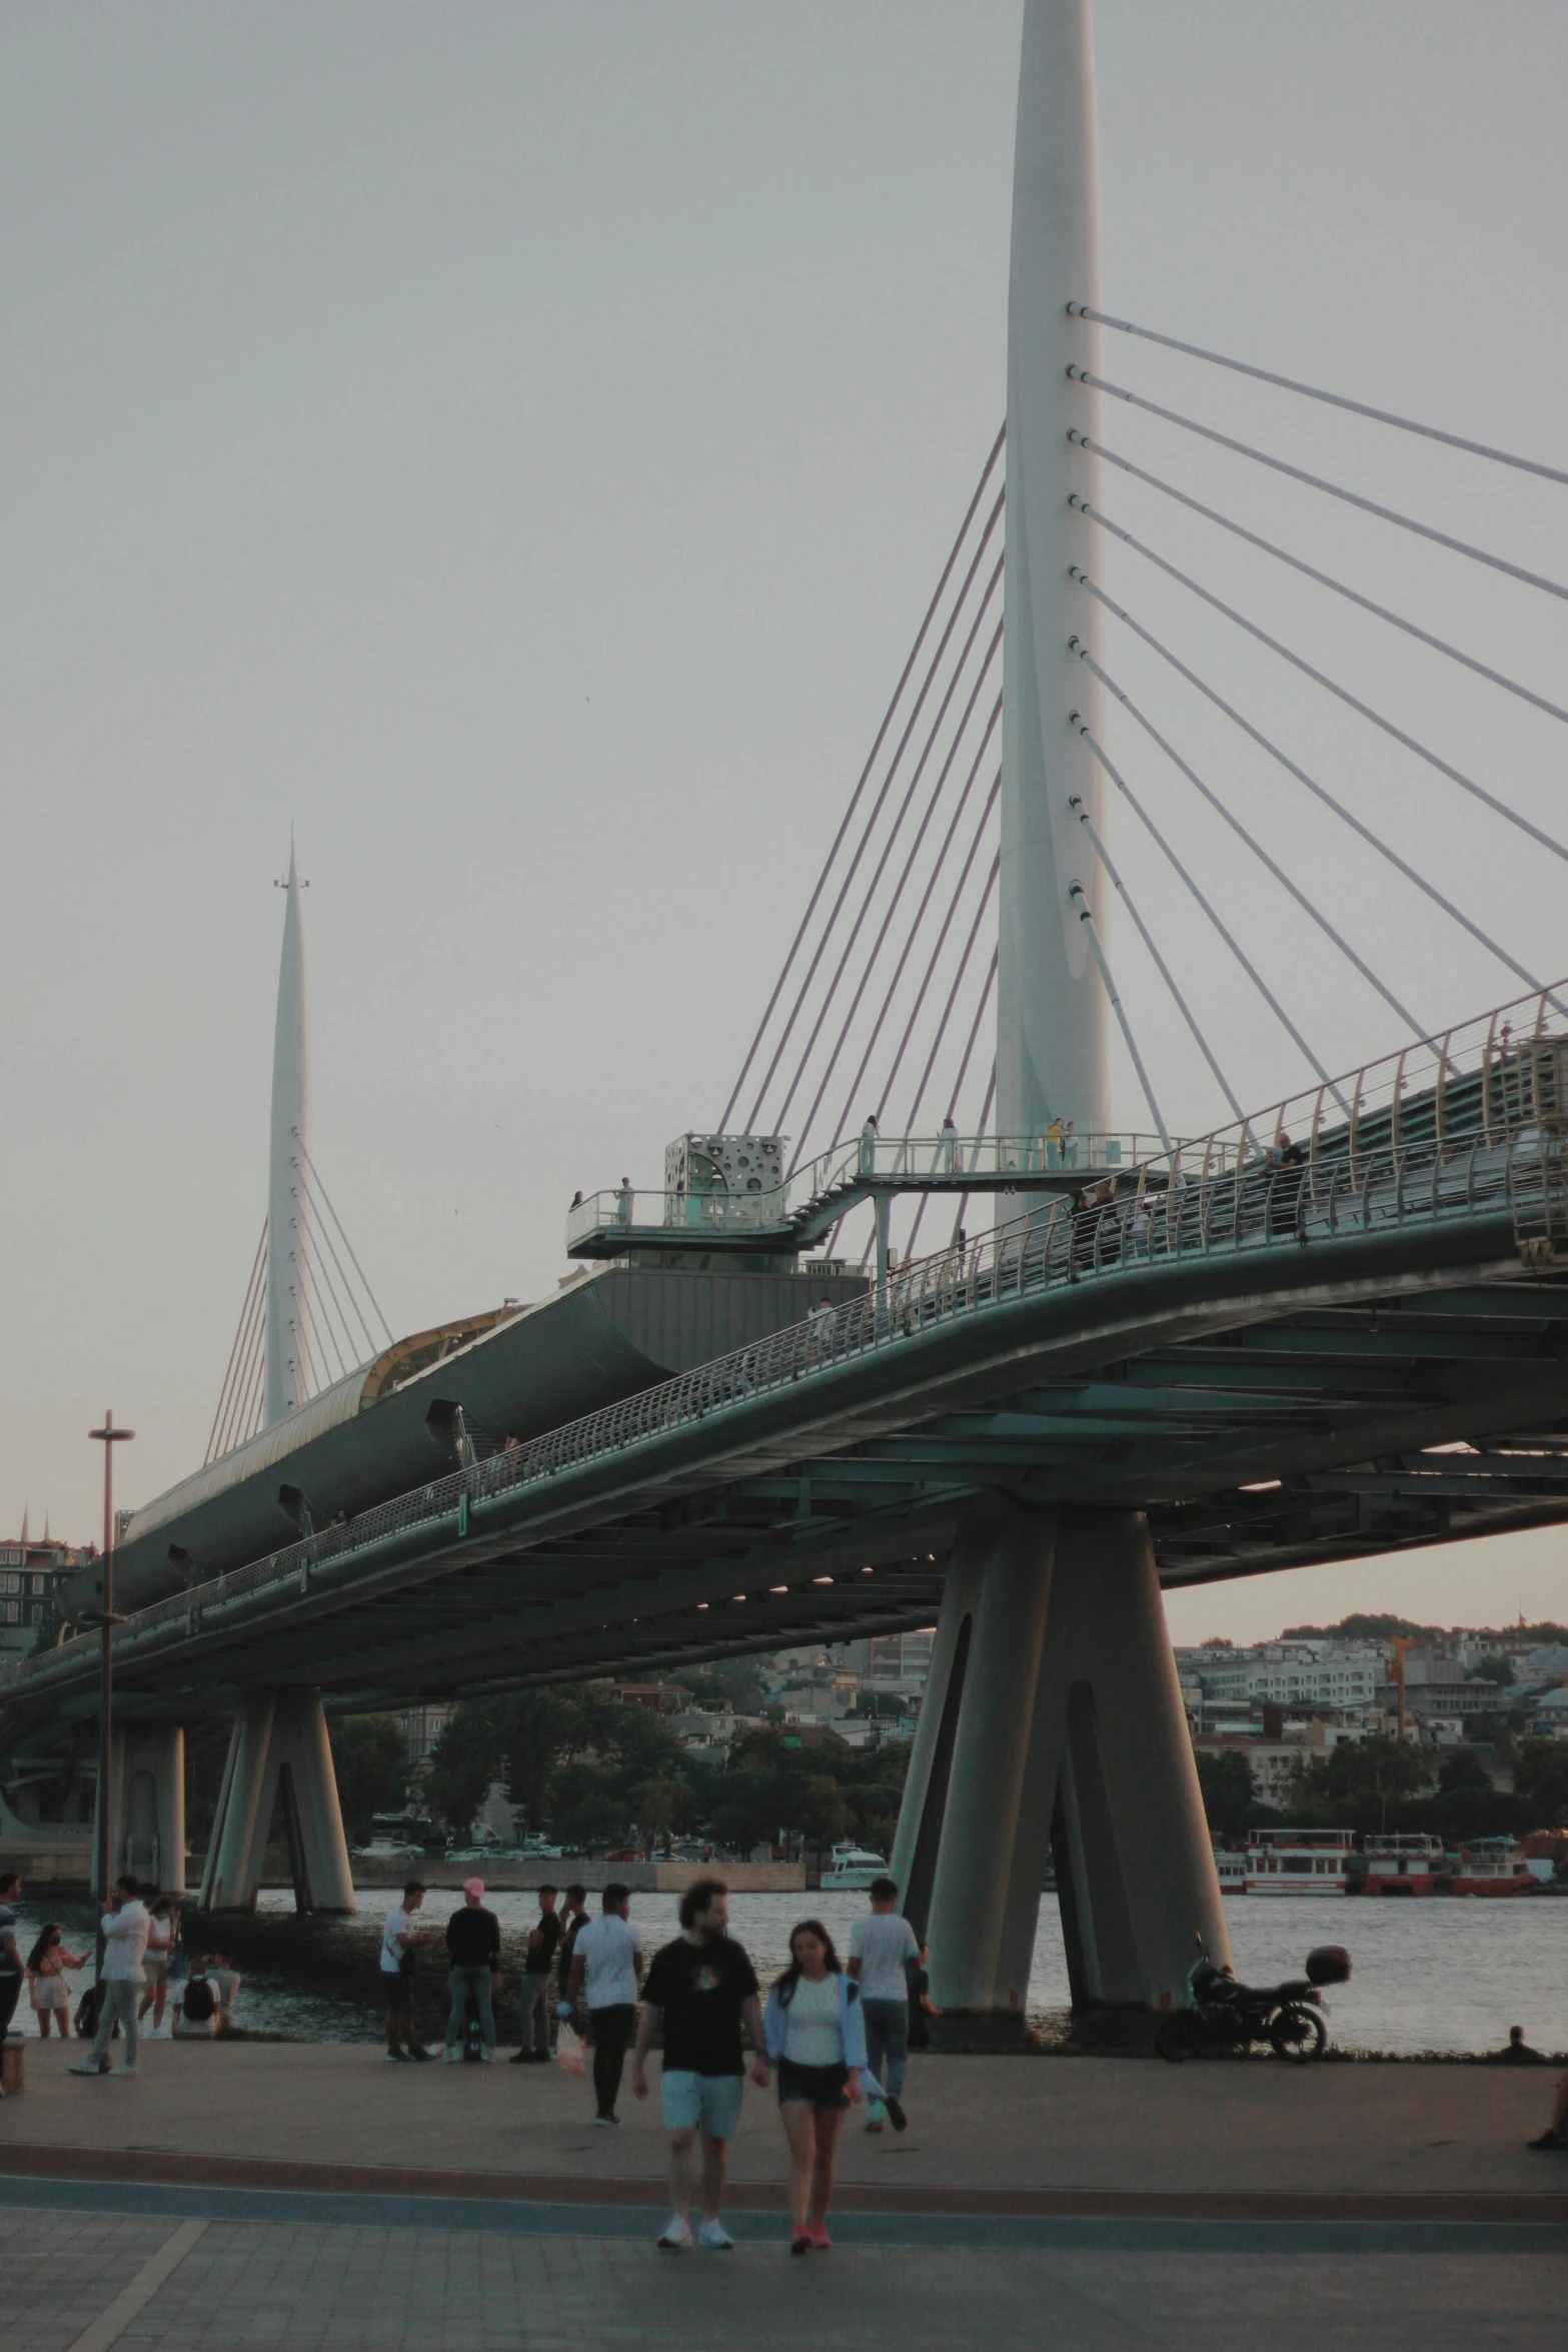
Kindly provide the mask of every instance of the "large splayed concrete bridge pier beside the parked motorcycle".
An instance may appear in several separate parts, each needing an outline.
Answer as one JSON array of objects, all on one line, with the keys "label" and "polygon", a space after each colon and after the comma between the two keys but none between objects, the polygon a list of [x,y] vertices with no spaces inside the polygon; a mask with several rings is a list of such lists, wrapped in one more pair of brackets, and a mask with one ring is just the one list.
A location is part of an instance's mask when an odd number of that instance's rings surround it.
[{"label": "large splayed concrete bridge pier beside the parked motorcycle", "polygon": [[938,2009],[1023,2023],[1048,1853],[1077,2011],[1180,2006],[1194,1931],[1229,1959],[1143,1512],[959,1541],[893,1846]]}]

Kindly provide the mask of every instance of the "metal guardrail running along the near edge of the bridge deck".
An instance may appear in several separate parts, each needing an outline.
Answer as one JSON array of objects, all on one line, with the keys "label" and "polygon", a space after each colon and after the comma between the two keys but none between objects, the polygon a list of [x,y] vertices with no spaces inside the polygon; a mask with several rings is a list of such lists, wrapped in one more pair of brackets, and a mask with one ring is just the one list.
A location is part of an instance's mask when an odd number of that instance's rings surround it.
[{"label": "metal guardrail running along the near edge of the bridge deck", "polygon": [[[1345,1232],[1434,1225],[1488,1211],[1505,1211],[1521,1244],[1568,1256],[1566,1155],[1568,1141],[1556,1124],[1528,1120],[1495,1136],[1481,1129],[1453,1143],[1439,1138],[1413,1150],[1342,1155],[1319,1169],[1305,1152],[1284,1157],[1272,1150],[1248,1167],[1232,1162],[1208,1176],[1173,1169],[1164,1190],[1133,1181],[1117,1195],[1114,1178],[1103,1178],[1074,1204],[1058,1200],[961,1249],[907,1265],[882,1294],[818,1308],[764,1341],[454,1470],[346,1526],[230,1569],[193,1592],[153,1602],[125,1623],[115,1646],[134,1658],[139,1646],[155,1646],[160,1632],[195,1630],[263,1592],[287,1585],[306,1592],[343,1555],[442,1517],[465,1519],[470,1510],[564,1470],[1044,1291],[1147,1272],[1161,1263],[1309,1247]],[[1131,1174],[1138,1178],[1138,1171]],[[2,1668],[0,1693],[21,1696],[28,1682],[47,1679],[66,1653],[78,1653],[78,1642],[82,1661],[96,1658],[96,1639],[75,1637],[42,1658]]]}]

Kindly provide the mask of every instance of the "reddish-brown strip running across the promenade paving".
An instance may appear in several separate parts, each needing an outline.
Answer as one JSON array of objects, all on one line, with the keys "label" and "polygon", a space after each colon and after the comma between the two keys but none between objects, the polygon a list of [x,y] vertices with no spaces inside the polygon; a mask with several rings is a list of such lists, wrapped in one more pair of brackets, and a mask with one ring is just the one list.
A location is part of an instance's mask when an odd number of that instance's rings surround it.
[{"label": "reddish-brown strip running across the promenade paving", "polygon": [[[270,2157],[183,2157],[174,2150],[0,2145],[0,2173],[45,2180],[155,2180],[179,2187],[315,2190],[336,2197],[487,2197],[498,2204],[663,2206],[663,2180],[581,2173],[458,2173],[393,2164],[284,2164]],[[726,2204],[783,2213],[785,2190],[731,2180]],[[867,2187],[842,2180],[846,2213],[987,2213],[999,2218],[1107,2220],[1448,2220],[1568,2223],[1568,2194],[1519,2190],[999,2190]]]}]

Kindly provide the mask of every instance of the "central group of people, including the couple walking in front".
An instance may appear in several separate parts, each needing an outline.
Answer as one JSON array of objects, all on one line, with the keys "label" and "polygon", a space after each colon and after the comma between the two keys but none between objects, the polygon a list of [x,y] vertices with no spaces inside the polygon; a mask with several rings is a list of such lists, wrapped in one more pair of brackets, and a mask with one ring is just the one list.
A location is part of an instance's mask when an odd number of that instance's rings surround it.
[{"label": "central group of people, including the couple walking in front", "polygon": [[[381,1936],[388,2060],[428,2060],[414,2027],[414,1969],[437,1929],[416,1926],[425,1889],[409,1882]],[[696,1879],[679,1900],[679,1936],[646,1962],[630,1917],[630,1889],[611,1882],[599,1917],[581,1886],[538,1891],[520,1990],[522,2049],[512,2065],[550,2060],[550,2027],[571,2023],[592,2051],[595,2126],[614,2131],[625,2058],[632,2096],[649,2098],[649,2056],[663,2039],[663,2124],[670,2138],[670,2220],[665,2251],[733,2244],[722,2220],[729,2143],[741,2122],[748,2049],[752,2082],[778,2084],[778,2117],[790,2161],[790,2246],[825,2251],[839,2131],[851,2107],[865,2129],[907,2129],[910,2002],[924,1992],[922,1950],[898,1912],[898,1889],[877,1879],[856,1919],[846,1962],[820,1919],[790,1931],[790,1964],[762,1999],[745,1947],[729,1933],[729,1889]],[[496,2051],[501,1924],[484,1905],[484,1882],[468,1879],[463,1907],[444,1929],[451,1962],[447,2060],[461,2056],[477,2009],[480,2056]],[[550,1978],[555,1999],[550,2002]],[[642,2002],[639,2002],[642,1994]],[[696,2218],[693,2218],[696,2209]]]}]

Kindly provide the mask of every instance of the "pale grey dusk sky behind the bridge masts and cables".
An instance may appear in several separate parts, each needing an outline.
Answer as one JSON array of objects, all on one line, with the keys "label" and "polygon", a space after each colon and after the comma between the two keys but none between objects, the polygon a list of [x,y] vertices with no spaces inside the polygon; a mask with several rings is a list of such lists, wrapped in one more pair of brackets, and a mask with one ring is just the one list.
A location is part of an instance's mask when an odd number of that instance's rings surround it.
[{"label": "pale grey dusk sky behind the bridge masts and cables", "polygon": [[[717,1120],[1004,405],[1016,0],[0,5],[0,1526],[193,1468],[266,1192],[282,875],[315,1160],[395,1329],[564,1270]],[[1112,313],[1566,463],[1568,16],[1100,0]],[[1110,336],[1182,414],[1556,574],[1568,492]],[[1110,447],[1537,687],[1563,604],[1112,402]],[[1112,520],[1540,823],[1554,720],[1147,485]],[[1105,583],[1540,976],[1554,858],[1117,543]],[[1422,1023],[1519,983],[1128,633],[1119,682]],[[1119,715],[1331,1068],[1387,1007]],[[1182,797],[1185,795],[1185,797]],[[1244,1101],[1305,1080],[1112,811]],[[1110,894],[1107,894],[1110,896]],[[1178,1131],[1222,1115],[1105,915]],[[1131,1065],[1117,1112],[1143,1122]],[[1147,1122],[1143,1122],[1147,1124]],[[1208,1588],[1568,1613],[1568,1538]],[[1201,1623],[1199,1623],[1201,1621]]]}]

